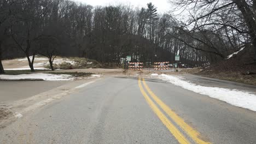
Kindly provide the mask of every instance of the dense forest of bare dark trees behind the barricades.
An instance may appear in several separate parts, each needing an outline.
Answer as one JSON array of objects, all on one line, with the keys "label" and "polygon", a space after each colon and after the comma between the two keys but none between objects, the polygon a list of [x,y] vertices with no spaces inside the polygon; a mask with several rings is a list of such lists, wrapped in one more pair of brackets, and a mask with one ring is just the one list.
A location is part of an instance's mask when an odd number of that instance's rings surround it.
[{"label": "dense forest of bare dark trees behind the barricades", "polygon": [[[69,0],[1,0],[1,60],[35,55],[75,56],[106,65],[174,62],[198,67],[222,61],[248,45],[256,59],[256,1],[171,0],[182,15],[159,14],[152,3],[92,7]],[[171,9],[171,8],[170,8]],[[186,15],[185,17],[184,14]],[[32,58],[30,58],[32,56]]]}]

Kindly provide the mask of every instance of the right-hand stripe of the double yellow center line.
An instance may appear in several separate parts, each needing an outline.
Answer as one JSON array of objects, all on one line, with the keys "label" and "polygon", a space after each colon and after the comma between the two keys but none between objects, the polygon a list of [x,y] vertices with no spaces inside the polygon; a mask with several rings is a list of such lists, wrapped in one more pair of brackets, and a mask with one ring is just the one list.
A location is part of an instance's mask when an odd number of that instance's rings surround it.
[{"label": "right-hand stripe of the double yellow center line", "polygon": [[161,99],[159,99],[148,87],[147,83],[145,82],[144,79],[142,79],[143,85],[148,91],[149,95],[155,100],[155,102],[161,107],[162,110],[164,110],[168,116],[170,116],[175,123],[179,125],[190,137],[193,139],[196,143],[200,144],[210,144],[210,142],[206,142],[201,140],[200,133],[196,130],[194,130],[190,125],[184,122],[184,120],[179,117],[174,111],[170,109]]}]

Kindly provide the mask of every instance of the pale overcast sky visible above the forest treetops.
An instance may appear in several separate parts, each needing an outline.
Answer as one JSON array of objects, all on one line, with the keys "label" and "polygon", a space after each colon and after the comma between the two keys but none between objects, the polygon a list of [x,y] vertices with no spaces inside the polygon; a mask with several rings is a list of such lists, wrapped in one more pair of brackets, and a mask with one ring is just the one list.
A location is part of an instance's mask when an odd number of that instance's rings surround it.
[{"label": "pale overcast sky visible above the forest treetops", "polygon": [[117,5],[117,4],[129,4],[134,7],[147,7],[147,3],[152,2],[155,7],[158,8],[160,13],[167,12],[171,10],[171,4],[168,3],[168,0],[73,0],[76,2],[82,2],[86,4],[90,4],[92,6],[96,5]]}]

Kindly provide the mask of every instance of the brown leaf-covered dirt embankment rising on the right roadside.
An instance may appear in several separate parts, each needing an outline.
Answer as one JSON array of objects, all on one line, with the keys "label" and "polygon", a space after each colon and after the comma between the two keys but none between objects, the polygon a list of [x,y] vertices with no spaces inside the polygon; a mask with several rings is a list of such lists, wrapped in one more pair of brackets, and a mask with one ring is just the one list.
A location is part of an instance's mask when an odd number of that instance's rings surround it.
[{"label": "brown leaf-covered dirt embankment rising on the right roadside", "polygon": [[256,73],[256,62],[253,59],[253,54],[252,48],[245,47],[244,50],[229,59],[204,68],[182,70],[182,73],[256,85],[256,74],[254,74]]}]

